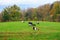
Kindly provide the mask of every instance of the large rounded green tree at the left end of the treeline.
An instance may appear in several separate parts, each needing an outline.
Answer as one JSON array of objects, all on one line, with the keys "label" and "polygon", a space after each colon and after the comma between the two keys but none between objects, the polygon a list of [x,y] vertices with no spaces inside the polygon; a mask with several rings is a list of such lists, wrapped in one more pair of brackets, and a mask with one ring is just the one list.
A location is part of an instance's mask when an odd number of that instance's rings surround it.
[{"label": "large rounded green tree at the left end of the treeline", "polygon": [[2,11],[4,21],[18,21],[21,18],[20,8],[16,5],[7,7]]}]

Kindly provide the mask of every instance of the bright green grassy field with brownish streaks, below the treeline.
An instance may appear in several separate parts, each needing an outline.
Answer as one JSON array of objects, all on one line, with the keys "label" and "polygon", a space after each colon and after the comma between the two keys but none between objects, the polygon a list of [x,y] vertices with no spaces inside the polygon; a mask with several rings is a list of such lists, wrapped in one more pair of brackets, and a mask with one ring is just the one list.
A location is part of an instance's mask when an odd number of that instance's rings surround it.
[{"label": "bright green grassy field with brownish streaks, below the treeline", "polygon": [[[33,21],[36,24],[36,21]],[[36,24],[39,31],[35,31],[28,25],[18,22],[0,23],[0,40],[60,40],[59,22],[41,22]]]}]

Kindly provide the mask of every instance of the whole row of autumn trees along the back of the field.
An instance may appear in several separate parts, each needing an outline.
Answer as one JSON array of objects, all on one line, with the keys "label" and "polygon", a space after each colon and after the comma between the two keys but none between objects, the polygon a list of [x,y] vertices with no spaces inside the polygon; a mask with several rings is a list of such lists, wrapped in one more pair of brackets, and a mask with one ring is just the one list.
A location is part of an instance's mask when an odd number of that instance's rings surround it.
[{"label": "whole row of autumn trees along the back of the field", "polygon": [[60,1],[26,10],[21,10],[17,5],[13,5],[4,8],[0,13],[1,22],[22,20],[60,22]]}]

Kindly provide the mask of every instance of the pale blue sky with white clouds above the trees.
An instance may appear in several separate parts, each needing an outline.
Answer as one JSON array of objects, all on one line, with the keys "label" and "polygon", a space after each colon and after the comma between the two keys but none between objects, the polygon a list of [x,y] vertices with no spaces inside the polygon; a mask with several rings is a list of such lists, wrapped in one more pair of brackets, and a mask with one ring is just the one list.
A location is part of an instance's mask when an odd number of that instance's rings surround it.
[{"label": "pale blue sky with white clouds above the trees", "polygon": [[0,11],[5,7],[12,6],[14,4],[18,5],[21,9],[27,9],[31,7],[36,8],[48,3],[51,4],[55,1],[57,0],[0,0]]}]

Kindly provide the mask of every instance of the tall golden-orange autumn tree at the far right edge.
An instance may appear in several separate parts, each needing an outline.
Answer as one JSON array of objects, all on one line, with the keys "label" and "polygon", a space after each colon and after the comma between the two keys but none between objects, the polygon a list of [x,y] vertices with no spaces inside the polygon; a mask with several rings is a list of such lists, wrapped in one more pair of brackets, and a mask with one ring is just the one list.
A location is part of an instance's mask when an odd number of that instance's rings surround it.
[{"label": "tall golden-orange autumn tree at the far right edge", "polygon": [[58,14],[60,14],[60,2],[57,1],[53,3],[52,9],[50,11],[50,17],[53,21],[57,21],[57,18],[59,16]]}]

